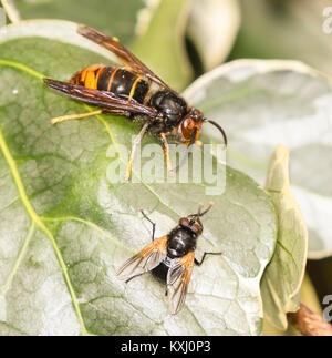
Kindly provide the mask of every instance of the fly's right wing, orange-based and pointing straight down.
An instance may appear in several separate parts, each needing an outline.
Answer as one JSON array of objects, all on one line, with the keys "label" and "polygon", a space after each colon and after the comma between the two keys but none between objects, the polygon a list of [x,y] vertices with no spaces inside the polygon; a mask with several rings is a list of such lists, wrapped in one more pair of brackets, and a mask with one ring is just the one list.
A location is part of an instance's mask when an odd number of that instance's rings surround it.
[{"label": "fly's right wing, orange-based and pointing straight down", "polygon": [[177,314],[184,306],[194,266],[194,253],[174,260],[167,273],[167,296],[172,314]]}]

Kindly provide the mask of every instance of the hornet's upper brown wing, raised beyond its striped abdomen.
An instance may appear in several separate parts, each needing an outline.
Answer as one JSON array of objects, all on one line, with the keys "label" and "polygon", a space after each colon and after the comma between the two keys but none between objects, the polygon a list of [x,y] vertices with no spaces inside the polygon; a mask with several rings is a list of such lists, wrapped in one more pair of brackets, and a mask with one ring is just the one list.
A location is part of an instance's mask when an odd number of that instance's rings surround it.
[{"label": "hornet's upper brown wing, raised beyond its striped abdomen", "polygon": [[[144,63],[142,63],[129,50],[122,45],[117,39],[110,38],[104,33],[89,27],[79,27],[77,32],[84,38],[104,47],[113,52],[121,62],[128,69],[147,79],[158,83],[168,91],[173,91],[162,79],[152,72]],[[174,91],[173,91],[174,92]]]}]

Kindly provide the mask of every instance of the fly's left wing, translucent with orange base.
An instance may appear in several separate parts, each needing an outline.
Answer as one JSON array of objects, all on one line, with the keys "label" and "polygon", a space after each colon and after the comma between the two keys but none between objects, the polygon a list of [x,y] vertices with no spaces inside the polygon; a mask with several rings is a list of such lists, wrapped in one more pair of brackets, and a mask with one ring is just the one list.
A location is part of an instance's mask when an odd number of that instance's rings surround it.
[{"label": "fly's left wing, translucent with orange base", "polygon": [[138,254],[126,260],[117,272],[118,278],[128,282],[157,267],[166,257],[167,241],[168,236],[157,238]]}]

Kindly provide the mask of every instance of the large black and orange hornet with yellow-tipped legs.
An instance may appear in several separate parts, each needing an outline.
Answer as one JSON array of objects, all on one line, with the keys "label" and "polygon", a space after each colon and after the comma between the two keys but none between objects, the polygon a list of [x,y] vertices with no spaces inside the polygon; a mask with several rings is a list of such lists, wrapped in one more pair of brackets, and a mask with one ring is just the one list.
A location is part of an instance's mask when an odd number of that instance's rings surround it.
[{"label": "large black and orange hornet with yellow-tipped legs", "polygon": [[[53,124],[97,114],[123,115],[144,123],[139,134],[133,141],[126,178],[131,176],[136,147],[146,132],[162,141],[167,170],[172,174],[184,163],[193,145],[200,143],[198,137],[204,123],[216,126],[227,145],[226,133],[218,123],[206,119],[199,110],[190,106],[176,91],[172,90],[123,47],[116,38],[110,38],[89,27],[79,27],[77,33],[113,52],[123,67],[91,65],[73,74],[69,82],[44,79],[48,86],[74,100],[101,108],[89,113],[53,119]],[[168,154],[167,136],[172,136],[187,146],[184,158],[175,168],[172,167]]]}]

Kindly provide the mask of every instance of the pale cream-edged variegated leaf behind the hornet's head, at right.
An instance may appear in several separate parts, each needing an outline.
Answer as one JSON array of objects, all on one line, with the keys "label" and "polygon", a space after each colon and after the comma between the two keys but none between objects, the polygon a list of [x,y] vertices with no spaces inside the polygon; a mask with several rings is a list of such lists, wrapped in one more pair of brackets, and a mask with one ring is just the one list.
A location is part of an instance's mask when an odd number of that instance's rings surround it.
[{"label": "pale cream-edged variegated leaf behind the hornet's head, at right", "polygon": [[[259,183],[274,147],[291,150],[291,187],[308,225],[309,257],[331,255],[330,82],[299,62],[239,60],[197,80],[185,96],[227,132],[228,163]],[[205,132],[220,141],[212,126]]]}]

